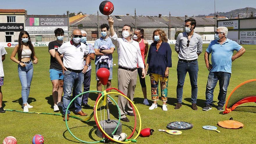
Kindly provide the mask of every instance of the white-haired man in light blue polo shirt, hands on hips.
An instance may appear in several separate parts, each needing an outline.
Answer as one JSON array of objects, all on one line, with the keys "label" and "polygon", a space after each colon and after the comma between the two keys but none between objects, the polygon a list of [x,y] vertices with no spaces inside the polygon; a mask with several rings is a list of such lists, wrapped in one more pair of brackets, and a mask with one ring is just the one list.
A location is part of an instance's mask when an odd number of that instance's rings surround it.
[{"label": "white-haired man in light blue polo shirt, hands on hips", "polygon": [[[223,111],[225,104],[227,87],[231,76],[232,61],[239,58],[245,52],[245,49],[237,44],[237,42],[227,39],[228,29],[224,26],[218,27],[214,38],[208,48],[205,51],[205,64],[210,71],[208,75],[208,81],[206,86],[206,102],[204,111],[209,111],[212,106],[214,88],[219,81],[220,92],[218,95],[218,107],[219,111]],[[233,51],[238,51],[233,55]],[[209,62],[209,55],[211,54],[211,63]]]}]

